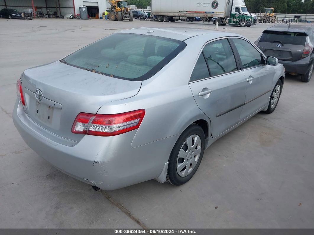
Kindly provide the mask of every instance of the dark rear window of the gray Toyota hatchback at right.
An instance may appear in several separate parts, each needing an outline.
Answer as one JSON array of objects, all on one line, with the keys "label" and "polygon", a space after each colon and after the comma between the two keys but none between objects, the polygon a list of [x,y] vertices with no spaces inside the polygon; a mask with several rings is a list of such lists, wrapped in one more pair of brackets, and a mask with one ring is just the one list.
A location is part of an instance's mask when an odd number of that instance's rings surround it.
[{"label": "dark rear window of the gray Toyota hatchback at right", "polygon": [[292,45],[305,45],[306,34],[284,31],[264,31],[260,42],[283,43]]}]

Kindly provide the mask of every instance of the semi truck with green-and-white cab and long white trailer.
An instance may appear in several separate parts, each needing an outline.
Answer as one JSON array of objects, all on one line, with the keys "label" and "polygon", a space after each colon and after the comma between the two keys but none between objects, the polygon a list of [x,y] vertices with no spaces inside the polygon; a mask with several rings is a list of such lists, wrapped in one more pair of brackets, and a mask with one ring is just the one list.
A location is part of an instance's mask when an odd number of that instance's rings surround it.
[{"label": "semi truck with green-and-white cab and long white trailer", "polygon": [[152,0],[152,16],[159,22],[194,21],[195,17],[213,18],[214,24],[250,27],[257,22],[244,0]]}]

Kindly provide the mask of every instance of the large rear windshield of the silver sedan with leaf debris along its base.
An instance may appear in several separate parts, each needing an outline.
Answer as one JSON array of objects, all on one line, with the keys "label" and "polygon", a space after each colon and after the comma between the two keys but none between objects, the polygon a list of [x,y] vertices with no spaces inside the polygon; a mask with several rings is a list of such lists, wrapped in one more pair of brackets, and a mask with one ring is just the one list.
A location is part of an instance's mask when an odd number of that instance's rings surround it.
[{"label": "large rear windshield of the silver sedan with leaf debris along its base", "polygon": [[143,81],[152,77],[186,46],[186,43],[149,35],[115,33],[60,60],[107,76]]}]

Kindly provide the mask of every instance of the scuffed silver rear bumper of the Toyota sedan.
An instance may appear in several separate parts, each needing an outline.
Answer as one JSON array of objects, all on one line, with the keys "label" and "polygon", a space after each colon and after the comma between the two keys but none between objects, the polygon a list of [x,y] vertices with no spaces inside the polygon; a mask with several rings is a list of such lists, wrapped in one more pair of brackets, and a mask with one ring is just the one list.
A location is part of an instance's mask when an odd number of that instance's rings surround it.
[{"label": "scuffed silver rear bumper of the Toyota sedan", "polygon": [[45,136],[31,129],[29,122],[32,121],[21,106],[17,101],[13,121],[26,144],[62,172],[103,190],[157,178],[179,136],[131,147],[137,131],[134,130],[111,137],[86,135],[70,147],[47,141]]}]

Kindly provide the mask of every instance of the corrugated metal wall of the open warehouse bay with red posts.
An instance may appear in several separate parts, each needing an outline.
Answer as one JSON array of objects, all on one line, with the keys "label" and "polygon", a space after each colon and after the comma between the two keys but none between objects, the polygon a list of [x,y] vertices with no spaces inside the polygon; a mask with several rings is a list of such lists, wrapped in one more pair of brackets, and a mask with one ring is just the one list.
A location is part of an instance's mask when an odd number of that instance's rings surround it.
[{"label": "corrugated metal wall of the open warehouse bay with red posts", "polygon": [[[34,7],[42,8],[42,11],[46,14],[47,9],[51,12],[58,10],[59,13],[59,2],[61,15],[73,14],[73,0],[47,0],[47,8],[45,0],[33,0]],[[14,8],[20,12],[23,8],[32,8],[31,0],[6,0],[7,8]],[[57,4],[56,4],[57,3]],[[57,9],[56,9],[57,6]],[[0,0],[0,9],[5,8],[4,0]]]}]

